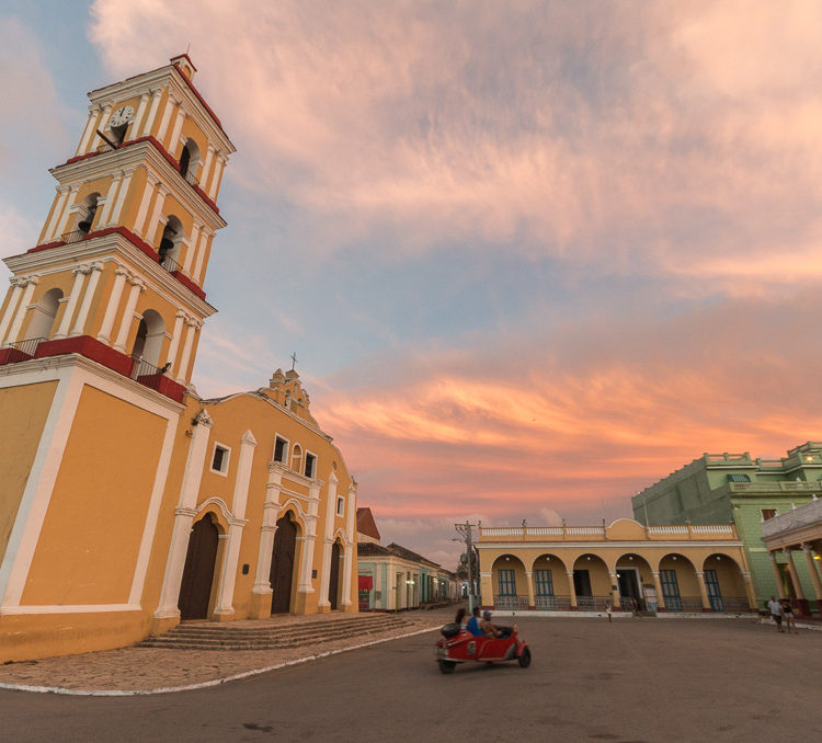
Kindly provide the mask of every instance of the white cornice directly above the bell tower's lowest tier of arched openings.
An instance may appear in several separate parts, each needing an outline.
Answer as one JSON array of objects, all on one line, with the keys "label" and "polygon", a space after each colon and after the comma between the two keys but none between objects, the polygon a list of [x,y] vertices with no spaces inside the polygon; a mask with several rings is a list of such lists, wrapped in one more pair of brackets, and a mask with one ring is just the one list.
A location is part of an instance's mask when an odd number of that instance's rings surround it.
[{"label": "white cornice directly above the bell tower's lowest tier of arched openings", "polygon": [[[13,273],[37,271],[39,274],[48,274],[65,271],[65,263],[92,259],[129,262],[148,281],[149,287],[171,305],[183,306],[203,318],[210,317],[217,311],[118,232],[110,232],[100,238],[57,245],[35,253],[12,255],[3,259],[3,262]],[[55,263],[64,265],[55,266],[49,271],[49,266]]]}]

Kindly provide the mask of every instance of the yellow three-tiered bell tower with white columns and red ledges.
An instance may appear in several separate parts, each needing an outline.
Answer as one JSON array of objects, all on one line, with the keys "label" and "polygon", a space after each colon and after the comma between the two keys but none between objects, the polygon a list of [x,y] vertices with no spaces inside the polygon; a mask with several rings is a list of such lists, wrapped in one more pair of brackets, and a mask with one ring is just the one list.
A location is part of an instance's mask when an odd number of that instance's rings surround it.
[{"label": "yellow three-tiered bell tower with white columns and red ledges", "polygon": [[140,609],[215,311],[202,287],[235,151],[195,72],[181,55],[89,93],[77,151],[50,171],[57,193],[37,244],[5,259],[0,630],[21,616],[46,631],[49,617],[122,621]]}]

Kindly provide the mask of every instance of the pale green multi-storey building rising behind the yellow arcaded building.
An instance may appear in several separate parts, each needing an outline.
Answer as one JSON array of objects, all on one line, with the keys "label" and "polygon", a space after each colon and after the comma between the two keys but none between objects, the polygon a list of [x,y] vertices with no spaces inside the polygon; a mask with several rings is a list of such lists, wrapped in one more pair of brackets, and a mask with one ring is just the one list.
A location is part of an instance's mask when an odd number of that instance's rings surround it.
[{"label": "pale green multi-storey building rising behind the yellow arcaded building", "polygon": [[[822,496],[822,442],[808,442],[780,459],[744,454],[704,454],[631,499],[641,524],[734,523],[745,548],[751,579],[762,607],[781,581],[783,595],[796,596],[784,555],[776,569],[762,541],[762,524],[777,514]],[[801,562],[799,580],[811,585]],[[777,579],[778,573],[778,579]],[[810,607],[817,608],[817,602]]]}]

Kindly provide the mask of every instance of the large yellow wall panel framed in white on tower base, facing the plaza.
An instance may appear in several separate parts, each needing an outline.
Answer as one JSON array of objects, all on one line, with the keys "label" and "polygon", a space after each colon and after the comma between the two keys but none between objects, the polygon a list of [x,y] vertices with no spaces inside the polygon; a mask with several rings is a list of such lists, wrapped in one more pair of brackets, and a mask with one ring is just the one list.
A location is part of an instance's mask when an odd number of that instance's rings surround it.
[{"label": "large yellow wall panel framed in white on tower base, facing the plaza", "polygon": [[165,421],[84,387],[22,605],[124,604]]}]

